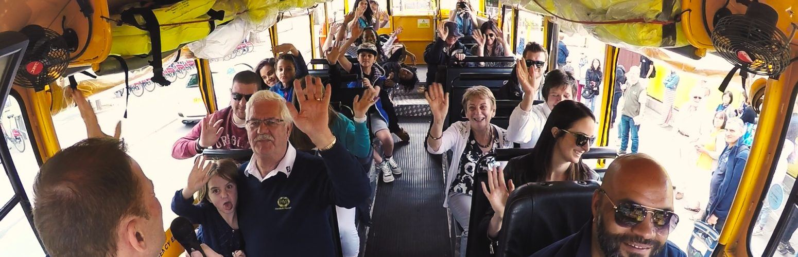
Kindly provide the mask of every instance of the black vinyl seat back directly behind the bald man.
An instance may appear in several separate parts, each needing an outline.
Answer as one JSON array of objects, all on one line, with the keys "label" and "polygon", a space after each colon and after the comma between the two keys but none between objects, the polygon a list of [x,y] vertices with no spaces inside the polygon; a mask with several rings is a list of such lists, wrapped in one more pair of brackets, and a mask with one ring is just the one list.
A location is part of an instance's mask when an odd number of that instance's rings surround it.
[{"label": "black vinyl seat back directly behind the bald man", "polygon": [[[598,181],[527,183],[510,194],[497,256],[529,256],[579,232],[591,220]],[[476,191],[476,190],[475,190]]]}]

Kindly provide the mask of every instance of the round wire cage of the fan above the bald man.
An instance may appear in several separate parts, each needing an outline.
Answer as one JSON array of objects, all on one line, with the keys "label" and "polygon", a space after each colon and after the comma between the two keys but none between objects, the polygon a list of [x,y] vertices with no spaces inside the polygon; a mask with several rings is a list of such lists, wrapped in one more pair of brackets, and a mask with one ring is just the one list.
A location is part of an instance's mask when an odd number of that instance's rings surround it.
[{"label": "round wire cage of the fan above the bald man", "polygon": [[[712,32],[712,43],[724,59],[745,71],[774,76],[789,65],[788,38],[779,29],[741,14],[721,18]],[[737,52],[748,53],[753,63],[737,58]]]}]

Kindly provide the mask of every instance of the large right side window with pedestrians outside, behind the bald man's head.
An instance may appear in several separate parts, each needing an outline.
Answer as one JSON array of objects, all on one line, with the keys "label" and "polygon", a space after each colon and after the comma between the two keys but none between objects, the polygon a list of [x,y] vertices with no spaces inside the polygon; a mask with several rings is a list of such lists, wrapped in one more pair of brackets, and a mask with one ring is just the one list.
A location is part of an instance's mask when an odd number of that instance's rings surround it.
[{"label": "large right side window with pedestrians outside, behind the bald man's head", "polygon": [[[670,57],[698,70],[732,68],[713,55]],[[626,83],[619,83],[622,92],[613,95],[618,104],[609,146],[619,154],[649,154],[665,166],[680,220],[668,239],[685,252],[700,253],[689,256],[702,256],[709,247],[701,238],[717,239],[703,232],[723,229],[757,127],[741,78],[735,76],[724,94],[717,89],[722,76],[682,72],[625,49],[616,68]]]}]

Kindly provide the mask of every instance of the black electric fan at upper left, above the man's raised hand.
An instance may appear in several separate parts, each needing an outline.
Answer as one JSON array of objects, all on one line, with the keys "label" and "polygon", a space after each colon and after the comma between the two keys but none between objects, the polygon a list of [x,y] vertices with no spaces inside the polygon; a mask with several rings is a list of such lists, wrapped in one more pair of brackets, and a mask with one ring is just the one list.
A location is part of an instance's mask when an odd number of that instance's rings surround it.
[{"label": "black electric fan at upper left, above the man's raised hand", "polygon": [[70,49],[75,47],[68,44],[65,37],[40,25],[28,25],[20,32],[28,37],[30,43],[25,56],[22,56],[14,84],[34,88],[37,92],[44,90],[47,84],[64,74],[70,61]]}]

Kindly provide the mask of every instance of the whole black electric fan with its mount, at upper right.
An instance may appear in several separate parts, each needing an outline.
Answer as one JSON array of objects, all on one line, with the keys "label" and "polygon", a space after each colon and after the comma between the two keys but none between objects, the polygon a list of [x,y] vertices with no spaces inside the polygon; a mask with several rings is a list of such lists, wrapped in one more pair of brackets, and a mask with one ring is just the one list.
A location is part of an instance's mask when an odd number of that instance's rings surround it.
[{"label": "whole black electric fan with its mount, at upper right", "polygon": [[751,2],[745,14],[721,8],[715,14],[712,44],[721,57],[746,72],[779,75],[790,62],[792,35],[776,28],[778,20],[776,10],[760,2]]}]

